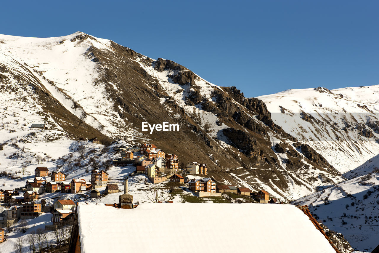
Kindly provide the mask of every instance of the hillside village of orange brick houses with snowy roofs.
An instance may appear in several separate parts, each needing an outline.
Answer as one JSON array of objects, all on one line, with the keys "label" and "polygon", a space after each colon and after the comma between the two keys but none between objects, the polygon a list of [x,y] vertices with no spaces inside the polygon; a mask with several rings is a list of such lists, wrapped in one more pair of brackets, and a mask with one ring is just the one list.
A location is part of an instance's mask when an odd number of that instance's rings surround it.
[{"label": "hillside village of orange brick houses with snowy roofs", "polygon": [[[88,142],[100,144],[97,138],[92,138]],[[247,187],[221,184],[214,178],[208,177],[205,163],[189,162],[182,167],[177,155],[165,153],[154,144],[122,145],[114,148],[113,152],[119,156],[116,160],[112,160],[113,166],[134,168],[127,175],[130,180],[145,177],[152,184],[167,185],[172,195],[178,192],[192,193],[193,198],[199,198],[199,202],[202,202],[201,198],[212,196],[221,198],[222,194],[227,196],[225,194],[228,193],[249,198],[254,203],[285,203],[277,198],[270,198],[265,190],[253,192]],[[6,239],[5,229],[9,232],[13,224],[19,220],[33,219],[44,213],[52,214],[51,222],[45,225],[46,230],[53,231],[72,224],[78,201],[65,198],[65,195],[79,194],[83,196],[80,201],[83,201],[122,192],[119,190],[119,185],[124,184],[126,175],[110,179],[106,169],[97,169],[94,166],[90,168],[91,170],[83,168],[89,170],[91,174],[91,179],[87,181],[83,178],[69,178],[66,173],[54,168],[36,167],[34,179],[27,179],[24,187],[0,189],[0,226],[2,227],[0,242]],[[60,193],[60,195],[56,200],[47,203],[44,196],[49,193]],[[151,201],[161,202],[160,196],[152,196]]]}]

